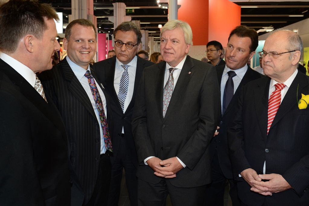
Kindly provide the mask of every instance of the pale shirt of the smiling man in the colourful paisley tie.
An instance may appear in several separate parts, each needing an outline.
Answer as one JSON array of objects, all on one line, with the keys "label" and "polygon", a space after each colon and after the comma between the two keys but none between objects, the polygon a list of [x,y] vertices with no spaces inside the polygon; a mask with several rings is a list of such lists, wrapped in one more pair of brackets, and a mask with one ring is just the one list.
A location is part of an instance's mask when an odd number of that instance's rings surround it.
[{"label": "pale shirt of the smiling man in the colourful paisley tie", "polygon": [[[103,137],[102,124],[100,122],[99,112],[96,108],[95,100],[93,99],[92,92],[91,92],[91,89],[90,89],[90,86],[89,86],[89,83],[88,83],[88,78],[85,77],[86,71],[88,70],[90,72],[90,67],[88,65],[87,70],[85,70],[84,68],[78,66],[73,61],[71,61],[69,56],[66,56],[66,61],[68,61],[68,63],[70,65],[71,69],[73,70],[75,76],[77,77],[78,81],[82,84],[84,90],[86,91],[86,93],[87,93],[87,95],[90,99],[91,105],[93,107],[93,111],[95,112],[95,116],[96,116],[98,123],[100,125],[100,128],[101,128],[100,129],[100,137],[101,137],[101,152],[100,152],[100,154],[104,154],[106,152],[106,147],[105,147],[105,142],[104,142],[104,137]],[[101,101],[102,101],[102,104],[103,104],[102,106],[104,108],[104,114],[105,114],[105,117],[106,117],[107,107],[106,107],[105,95],[104,95],[103,91],[101,90],[101,87],[99,86],[99,84],[96,80],[95,80],[95,85],[97,86],[97,89],[99,91]]]}]

